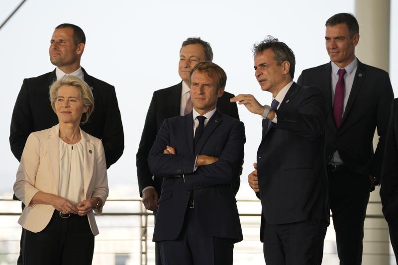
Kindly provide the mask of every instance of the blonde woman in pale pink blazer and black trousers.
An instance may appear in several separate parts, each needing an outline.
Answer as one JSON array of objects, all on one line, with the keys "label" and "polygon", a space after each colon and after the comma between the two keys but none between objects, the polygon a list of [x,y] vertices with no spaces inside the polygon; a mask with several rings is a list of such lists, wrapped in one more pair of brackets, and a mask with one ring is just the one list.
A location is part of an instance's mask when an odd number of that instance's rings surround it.
[{"label": "blonde woman in pale pink blazer and black trousers", "polygon": [[18,223],[25,229],[25,265],[92,263],[94,212],[108,196],[101,140],[80,129],[94,110],[89,86],[64,77],[50,88],[59,124],[29,135],[14,192],[25,205]]}]

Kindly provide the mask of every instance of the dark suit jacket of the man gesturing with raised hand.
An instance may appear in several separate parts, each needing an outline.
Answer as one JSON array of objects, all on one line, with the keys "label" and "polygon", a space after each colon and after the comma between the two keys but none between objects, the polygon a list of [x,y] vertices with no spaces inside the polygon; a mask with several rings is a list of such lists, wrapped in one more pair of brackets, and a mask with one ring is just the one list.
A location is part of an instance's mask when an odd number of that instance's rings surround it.
[{"label": "dark suit jacket of the man gesturing with raised hand", "polygon": [[278,121],[269,129],[263,120],[257,151],[261,235],[264,218],[270,224],[329,221],[325,96],[319,88],[293,83],[275,112]]}]

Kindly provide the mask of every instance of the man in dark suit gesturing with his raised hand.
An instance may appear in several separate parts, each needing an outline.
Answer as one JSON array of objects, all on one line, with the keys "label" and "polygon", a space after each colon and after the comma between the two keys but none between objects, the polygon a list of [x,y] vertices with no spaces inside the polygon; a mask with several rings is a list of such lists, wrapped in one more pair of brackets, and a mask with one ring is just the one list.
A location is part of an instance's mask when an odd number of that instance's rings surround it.
[{"label": "man in dark suit gesturing with his raised hand", "polygon": [[324,163],[326,99],[293,82],[295,55],[269,36],[253,47],[255,76],[271,105],[251,94],[231,102],[262,118],[263,134],[249,184],[261,199],[260,240],[267,265],[320,265],[329,223]]}]

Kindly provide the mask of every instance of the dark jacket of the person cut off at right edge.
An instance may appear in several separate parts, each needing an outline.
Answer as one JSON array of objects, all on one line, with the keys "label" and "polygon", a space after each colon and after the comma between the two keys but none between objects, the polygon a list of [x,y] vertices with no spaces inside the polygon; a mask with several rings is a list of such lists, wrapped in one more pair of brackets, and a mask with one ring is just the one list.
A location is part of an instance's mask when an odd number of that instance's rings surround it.
[{"label": "dark jacket of the person cut off at right edge", "polygon": [[381,176],[380,197],[383,214],[389,225],[398,223],[398,98],[391,105],[391,116],[386,135],[386,149]]}]

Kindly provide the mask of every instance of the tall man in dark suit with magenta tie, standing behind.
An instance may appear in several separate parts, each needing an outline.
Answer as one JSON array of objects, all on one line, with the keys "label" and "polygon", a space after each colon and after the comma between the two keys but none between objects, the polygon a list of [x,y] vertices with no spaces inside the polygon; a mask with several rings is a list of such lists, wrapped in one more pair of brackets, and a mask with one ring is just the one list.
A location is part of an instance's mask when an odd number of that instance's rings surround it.
[{"label": "tall man in dark suit with magenta tie, standing behind", "polygon": [[[366,207],[379,183],[393,90],[387,72],[356,58],[359,25],[352,14],[335,14],[325,25],[330,62],[304,70],[297,83],[318,86],[326,95],[326,168],[337,253],[340,265],[360,265]],[[380,138],[374,152],[376,127]]]}]

